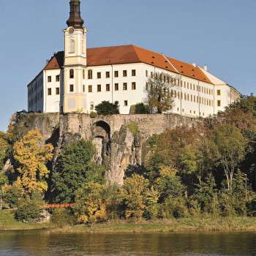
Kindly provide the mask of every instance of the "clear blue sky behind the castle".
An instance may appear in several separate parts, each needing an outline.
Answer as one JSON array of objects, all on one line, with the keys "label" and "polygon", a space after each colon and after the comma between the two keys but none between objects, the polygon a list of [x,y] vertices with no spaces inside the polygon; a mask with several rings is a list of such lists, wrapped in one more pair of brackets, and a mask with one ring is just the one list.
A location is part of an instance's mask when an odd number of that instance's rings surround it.
[{"label": "clear blue sky behind the castle", "polygon": [[[81,0],[88,46],[135,44],[208,65],[242,94],[256,93],[255,0]],[[26,84],[62,50],[68,0],[0,1],[0,130],[26,109]]]}]

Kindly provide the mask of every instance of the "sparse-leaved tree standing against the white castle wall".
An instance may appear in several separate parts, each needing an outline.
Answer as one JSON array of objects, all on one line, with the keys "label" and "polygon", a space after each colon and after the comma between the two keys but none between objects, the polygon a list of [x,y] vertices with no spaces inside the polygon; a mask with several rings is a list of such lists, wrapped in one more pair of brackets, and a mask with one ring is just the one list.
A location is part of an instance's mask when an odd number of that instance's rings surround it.
[{"label": "sparse-leaved tree standing against the white castle wall", "polygon": [[173,107],[173,97],[170,89],[173,86],[173,78],[163,72],[154,72],[151,78],[148,78],[148,90],[146,104],[151,113],[157,110],[157,113],[163,113],[171,110]]}]

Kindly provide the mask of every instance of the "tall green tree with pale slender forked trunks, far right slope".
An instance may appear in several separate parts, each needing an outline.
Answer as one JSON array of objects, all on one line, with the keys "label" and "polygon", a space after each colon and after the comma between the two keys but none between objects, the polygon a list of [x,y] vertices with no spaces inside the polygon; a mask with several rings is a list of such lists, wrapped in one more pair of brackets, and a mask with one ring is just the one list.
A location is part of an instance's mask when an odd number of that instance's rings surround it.
[{"label": "tall green tree with pale slender forked trunks, far right slope", "polygon": [[246,139],[234,125],[222,125],[214,129],[209,148],[209,154],[217,159],[217,165],[224,170],[227,190],[232,191],[235,170],[244,159]]}]

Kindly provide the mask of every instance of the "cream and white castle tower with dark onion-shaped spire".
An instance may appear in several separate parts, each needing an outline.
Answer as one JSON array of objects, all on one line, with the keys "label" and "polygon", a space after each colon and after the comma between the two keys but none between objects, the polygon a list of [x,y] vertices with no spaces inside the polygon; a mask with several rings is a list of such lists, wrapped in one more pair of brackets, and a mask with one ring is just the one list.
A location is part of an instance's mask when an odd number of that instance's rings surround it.
[{"label": "cream and white castle tower with dark onion-shaped spire", "polygon": [[64,113],[87,112],[84,91],[86,69],[86,34],[80,17],[80,0],[70,0],[67,29],[64,29],[64,88],[62,109]]}]

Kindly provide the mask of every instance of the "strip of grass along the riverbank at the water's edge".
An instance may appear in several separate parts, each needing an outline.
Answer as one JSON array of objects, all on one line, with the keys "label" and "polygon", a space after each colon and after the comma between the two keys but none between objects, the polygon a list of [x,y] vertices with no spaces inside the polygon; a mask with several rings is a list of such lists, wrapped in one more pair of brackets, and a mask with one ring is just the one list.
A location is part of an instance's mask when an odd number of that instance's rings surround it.
[{"label": "strip of grass along the riverbank at the water's edge", "polygon": [[178,233],[178,232],[248,232],[256,231],[256,218],[197,217],[186,219],[158,219],[154,221],[105,222],[91,227],[75,225],[55,227],[49,223],[25,224],[17,222],[10,210],[0,211],[0,230],[48,230],[50,233]]}]

